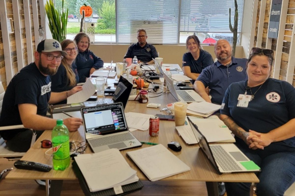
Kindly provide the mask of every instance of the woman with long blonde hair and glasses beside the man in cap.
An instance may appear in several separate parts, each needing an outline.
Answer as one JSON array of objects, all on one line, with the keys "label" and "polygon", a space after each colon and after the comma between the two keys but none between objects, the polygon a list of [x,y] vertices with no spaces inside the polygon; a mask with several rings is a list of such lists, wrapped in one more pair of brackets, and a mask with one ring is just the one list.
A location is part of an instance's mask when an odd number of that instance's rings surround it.
[{"label": "woman with long blonde hair and glasses beside the man in cap", "polygon": [[[75,59],[77,57],[77,44],[75,41],[65,39],[61,43],[61,48],[67,53],[62,59],[58,71],[55,75],[51,76],[51,91],[63,92],[71,90],[79,82],[79,76]],[[66,103],[67,100],[63,100],[56,104]]]}]

